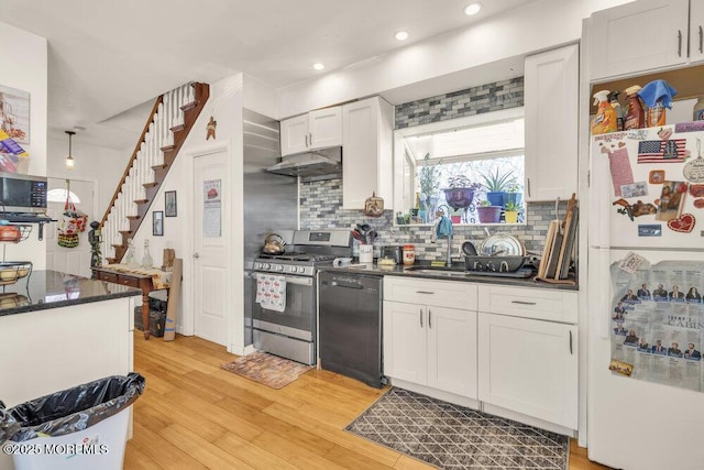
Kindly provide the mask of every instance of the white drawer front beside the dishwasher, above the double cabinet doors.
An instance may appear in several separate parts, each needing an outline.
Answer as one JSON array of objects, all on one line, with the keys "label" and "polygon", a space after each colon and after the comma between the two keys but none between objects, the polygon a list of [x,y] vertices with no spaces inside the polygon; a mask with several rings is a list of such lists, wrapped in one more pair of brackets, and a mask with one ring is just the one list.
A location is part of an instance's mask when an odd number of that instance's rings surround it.
[{"label": "white drawer front beside the dishwasher, above the double cabinet doors", "polygon": [[461,281],[384,276],[384,299],[476,310],[476,285]]}]

